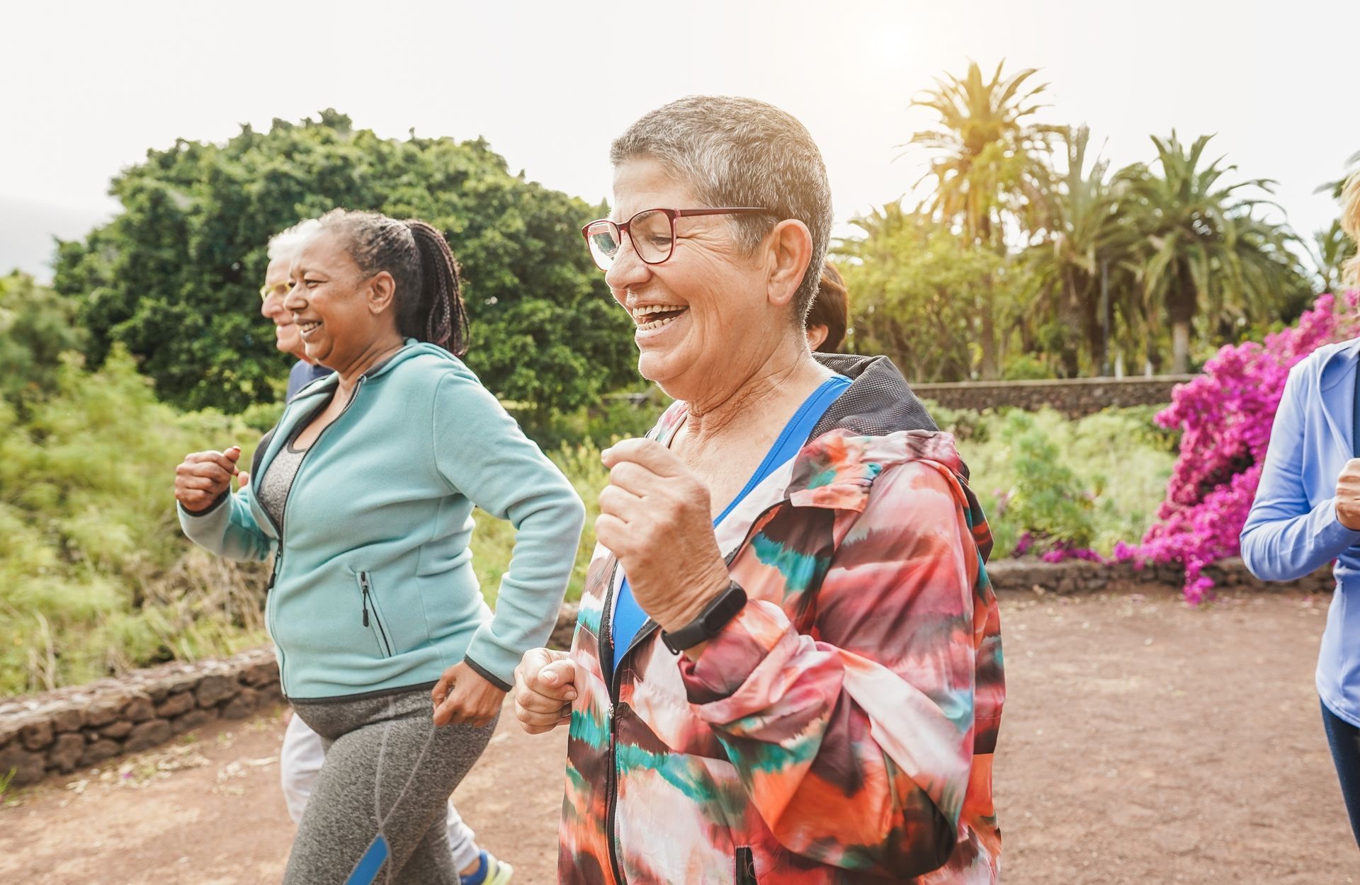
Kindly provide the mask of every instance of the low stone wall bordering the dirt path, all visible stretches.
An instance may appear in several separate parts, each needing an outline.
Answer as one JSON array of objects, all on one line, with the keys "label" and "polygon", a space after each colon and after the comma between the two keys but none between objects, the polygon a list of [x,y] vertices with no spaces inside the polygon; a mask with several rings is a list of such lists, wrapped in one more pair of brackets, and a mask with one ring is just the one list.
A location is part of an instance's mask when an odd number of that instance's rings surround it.
[{"label": "low stone wall bordering the dirt path, all visible stretches", "polygon": [[[1070,560],[998,560],[987,566],[998,591],[1076,594],[1157,589],[1182,585],[1175,566],[1102,566]],[[1224,590],[1295,590],[1331,593],[1331,570],[1289,583],[1262,583],[1242,560],[1206,571]],[[566,604],[549,644],[566,648],[577,606]],[[256,648],[220,661],[167,663],[122,678],[64,688],[0,703],[0,776],[11,768],[15,784],[69,774],[118,756],[163,744],[215,719],[243,719],[282,700],[279,667],[271,648]]]}]

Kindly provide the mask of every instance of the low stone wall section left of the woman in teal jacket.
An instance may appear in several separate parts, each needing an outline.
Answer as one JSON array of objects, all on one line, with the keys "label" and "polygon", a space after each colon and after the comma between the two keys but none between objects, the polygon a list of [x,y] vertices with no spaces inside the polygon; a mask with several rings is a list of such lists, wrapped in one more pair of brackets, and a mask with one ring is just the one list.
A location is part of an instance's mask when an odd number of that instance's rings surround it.
[{"label": "low stone wall section left of the woman in teal jacket", "polygon": [[282,700],[269,648],[166,663],[0,703],[0,778],[14,784],[136,753],[214,719],[245,719]]}]

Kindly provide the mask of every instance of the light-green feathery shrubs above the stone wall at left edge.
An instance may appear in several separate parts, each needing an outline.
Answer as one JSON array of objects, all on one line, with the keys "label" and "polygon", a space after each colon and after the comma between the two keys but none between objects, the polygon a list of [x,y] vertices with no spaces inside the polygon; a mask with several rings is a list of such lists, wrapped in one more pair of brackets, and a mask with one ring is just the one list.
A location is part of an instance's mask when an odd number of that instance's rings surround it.
[{"label": "light-green feathery shrubs above the stone wall at left edge", "polygon": [[98,372],[68,355],[50,396],[0,401],[0,692],[264,640],[262,567],[212,560],[175,522],[185,453],[258,434],[180,415],[116,349]]}]

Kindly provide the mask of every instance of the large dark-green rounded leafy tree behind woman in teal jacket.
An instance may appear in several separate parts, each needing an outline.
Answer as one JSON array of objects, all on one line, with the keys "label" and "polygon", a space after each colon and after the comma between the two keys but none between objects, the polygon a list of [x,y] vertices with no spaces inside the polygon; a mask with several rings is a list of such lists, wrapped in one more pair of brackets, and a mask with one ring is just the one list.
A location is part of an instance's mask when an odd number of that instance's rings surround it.
[{"label": "large dark-green rounded leafy tree behind woman in teal jacket", "polygon": [[148,151],[110,192],[122,213],[60,245],[56,288],[82,299],[95,366],[121,343],[177,405],[279,396],[283,362],[256,311],[265,243],[335,207],[443,230],[466,277],[468,363],[498,396],[571,409],[635,379],[631,322],[578,234],[601,209],[510,174],[484,140],[381,139],[328,110]]}]

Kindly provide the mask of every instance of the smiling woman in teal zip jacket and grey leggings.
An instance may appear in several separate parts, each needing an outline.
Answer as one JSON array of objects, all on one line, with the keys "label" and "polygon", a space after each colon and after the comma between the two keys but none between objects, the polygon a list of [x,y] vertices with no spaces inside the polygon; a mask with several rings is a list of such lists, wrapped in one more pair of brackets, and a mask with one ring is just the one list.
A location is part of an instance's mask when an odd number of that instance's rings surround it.
[{"label": "smiling woman in teal zip jacket and grey leggings", "polygon": [[[291,283],[307,359],[335,374],[288,404],[249,487],[230,493],[239,447],[188,455],[180,523],[220,556],[275,555],[280,682],[326,745],[284,882],[454,884],[446,799],[552,628],[583,507],[461,362],[468,319],[439,231],[336,209]],[[518,532],[494,616],[473,506]]]}]

